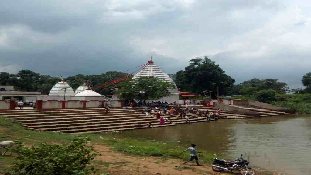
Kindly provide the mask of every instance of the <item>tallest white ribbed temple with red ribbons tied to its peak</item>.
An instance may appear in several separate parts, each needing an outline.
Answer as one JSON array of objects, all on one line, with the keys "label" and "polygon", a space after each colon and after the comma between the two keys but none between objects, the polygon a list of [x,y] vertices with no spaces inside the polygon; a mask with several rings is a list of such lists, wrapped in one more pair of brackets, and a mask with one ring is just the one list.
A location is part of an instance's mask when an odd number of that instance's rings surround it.
[{"label": "tallest white ribbed temple with red ribbons tied to its peak", "polygon": [[[161,99],[154,99],[154,100],[159,100],[160,102],[177,102],[179,103],[179,93],[178,93],[178,88],[176,84],[174,83],[173,79],[169,77],[168,74],[166,74],[159,66],[153,63],[152,60],[148,60],[148,65],[144,67],[142,70],[140,70],[138,73],[136,73],[133,78],[139,78],[139,77],[149,77],[149,76],[154,76],[157,78],[162,79],[163,81],[173,83],[175,85],[175,88],[169,89],[169,92],[172,92],[172,95],[169,97],[164,97]],[[151,102],[152,100],[147,100],[147,102]]]}]

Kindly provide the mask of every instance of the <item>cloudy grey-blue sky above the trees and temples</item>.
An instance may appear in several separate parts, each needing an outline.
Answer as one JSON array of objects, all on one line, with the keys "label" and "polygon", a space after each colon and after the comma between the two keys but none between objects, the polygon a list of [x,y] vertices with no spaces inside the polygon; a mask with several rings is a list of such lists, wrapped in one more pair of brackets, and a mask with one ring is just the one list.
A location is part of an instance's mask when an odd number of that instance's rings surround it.
[{"label": "cloudy grey-blue sky above the trees and temples", "polygon": [[311,1],[1,0],[0,72],[63,77],[153,61],[166,73],[209,56],[241,83],[303,87]]}]

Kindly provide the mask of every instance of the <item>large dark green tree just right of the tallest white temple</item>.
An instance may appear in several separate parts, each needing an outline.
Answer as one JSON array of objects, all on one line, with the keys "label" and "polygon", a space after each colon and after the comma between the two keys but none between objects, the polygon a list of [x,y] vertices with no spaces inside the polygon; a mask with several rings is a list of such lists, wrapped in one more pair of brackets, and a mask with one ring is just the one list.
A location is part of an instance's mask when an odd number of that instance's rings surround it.
[{"label": "large dark green tree just right of the tallest white temple", "polygon": [[229,93],[234,82],[233,78],[226,75],[225,71],[208,57],[191,59],[184,71],[176,73],[177,86],[192,93],[201,93],[204,90],[217,92],[219,87],[219,94],[225,95]]}]

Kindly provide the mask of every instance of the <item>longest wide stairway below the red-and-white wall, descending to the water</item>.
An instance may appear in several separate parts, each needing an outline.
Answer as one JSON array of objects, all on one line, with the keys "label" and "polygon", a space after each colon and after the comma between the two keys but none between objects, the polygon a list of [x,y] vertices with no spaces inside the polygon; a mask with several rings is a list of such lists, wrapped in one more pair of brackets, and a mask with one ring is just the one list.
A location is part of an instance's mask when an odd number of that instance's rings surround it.
[{"label": "longest wide stairway below the red-and-white wall, descending to the water", "polygon": [[[159,120],[133,108],[110,108],[108,114],[105,114],[103,108],[15,110],[0,111],[0,116],[21,122],[30,129],[74,134],[140,129],[146,128],[148,123],[152,123],[154,127],[186,123],[186,119],[164,115],[169,117],[169,121],[160,125]],[[197,116],[189,115],[188,118],[191,122],[204,121]]]}]

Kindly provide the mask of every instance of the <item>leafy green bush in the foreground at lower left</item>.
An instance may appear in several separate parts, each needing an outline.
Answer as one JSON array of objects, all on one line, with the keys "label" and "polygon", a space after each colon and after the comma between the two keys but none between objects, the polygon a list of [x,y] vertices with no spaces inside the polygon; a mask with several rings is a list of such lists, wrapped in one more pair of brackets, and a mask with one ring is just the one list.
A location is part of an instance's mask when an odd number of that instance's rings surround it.
[{"label": "leafy green bush in the foreground at lower left", "polygon": [[16,175],[87,175],[96,173],[94,167],[87,166],[97,152],[93,146],[86,146],[87,137],[76,137],[71,144],[47,144],[26,147],[16,142],[13,151],[18,154],[8,174]]}]

